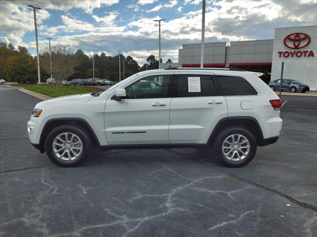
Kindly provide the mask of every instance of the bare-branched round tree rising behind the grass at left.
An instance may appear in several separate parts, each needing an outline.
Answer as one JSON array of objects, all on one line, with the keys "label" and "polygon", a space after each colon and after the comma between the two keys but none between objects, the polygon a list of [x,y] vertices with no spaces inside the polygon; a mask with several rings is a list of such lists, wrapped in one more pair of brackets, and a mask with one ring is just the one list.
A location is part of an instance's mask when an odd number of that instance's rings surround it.
[{"label": "bare-branched round tree rising behind the grass at left", "polygon": [[[69,44],[55,44],[52,46],[52,75],[58,83],[56,83],[56,90],[58,84],[61,84],[62,80],[68,79],[75,73],[76,66],[79,65],[80,60],[74,55],[74,47]],[[49,48],[41,50],[41,67],[51,74],[51,61]]]}]

